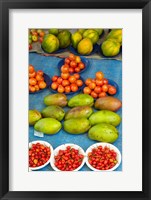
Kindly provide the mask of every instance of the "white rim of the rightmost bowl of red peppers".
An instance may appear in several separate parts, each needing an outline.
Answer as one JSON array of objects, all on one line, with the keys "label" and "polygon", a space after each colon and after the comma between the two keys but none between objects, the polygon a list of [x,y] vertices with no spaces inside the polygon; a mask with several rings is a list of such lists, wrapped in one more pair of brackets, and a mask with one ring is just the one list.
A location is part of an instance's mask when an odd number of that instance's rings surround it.
[{"label": "white rim of the rightmost bowl of red peppers", "polygon": [[[112,167],[111,169],[108,169],[108,170],[99,170],[99,169],[96,169],[94,168],[92,165],[89,164],[89,161],[88,161],[88,153],[92,152],[92,149],[93,148],[97,148],[98,146],[102,146],[102,147],[105,147],[107,146],[108,148],[110,148],[111,150],[113,149],[116,153],[117,153],[117,164]],[[86,164],[87,166],[92,169],[93,171],[102,171],[102,172],[106,172],[106,171],[113,171],[115,170],[121,163],[121,153],[120,151],[118,150],[118,148],[116,148],[114,145],[110,144],[110,143],[105,143],[105,142],[99,142],[99,143],[96,143],[96,144],[93,144],[91,145],[87,150],[86,150]]]}]

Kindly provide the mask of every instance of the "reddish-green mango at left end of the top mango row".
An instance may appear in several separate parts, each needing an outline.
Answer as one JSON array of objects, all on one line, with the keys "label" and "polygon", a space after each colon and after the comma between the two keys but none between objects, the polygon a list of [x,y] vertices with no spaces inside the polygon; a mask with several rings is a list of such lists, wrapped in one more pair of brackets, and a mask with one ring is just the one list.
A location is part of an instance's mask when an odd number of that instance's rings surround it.
[{"label": "reddish-green mango at left end of the top mango row", "polygon": [[46,106],[57,105],[61,107],[65,107],[67,105],[67,96],[65,94],[49,94],[44,97],[44,104]]}]

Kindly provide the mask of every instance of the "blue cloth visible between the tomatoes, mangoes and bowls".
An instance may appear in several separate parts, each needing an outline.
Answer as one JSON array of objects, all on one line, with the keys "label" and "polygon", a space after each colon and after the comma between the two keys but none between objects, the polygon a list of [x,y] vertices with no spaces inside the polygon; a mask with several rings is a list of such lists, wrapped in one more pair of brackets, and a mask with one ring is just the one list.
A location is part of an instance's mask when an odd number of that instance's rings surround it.
[{"label": "blue cloth visible between the tomatoes, mangoes and bowls", "polygon": [[[42,56],[37,53],[29,53],[29,64],[32,64],[36,70],[43,70],[44,73],[48,74],[50,77],[53,75],[59,75],[60,72],[57,68],[57,64],[60,61],[60,58],[52,56]],[[105,78],[115,81],[119,86],[119,93],[116,96],[118,99],[122,100],[122,62],[118,60],[111,59],[89,59],[90,66],[87,70],[81,73],[82,78],[85,80],[88,77],[95,78],[95,73],[97,71],[102,71],[105,74]],[[50,89],[45,89],[37,94],[29,94],[29,109],[37,109],[41,111],[46,107],[43,103],[43,99],[46,95],[51,94]],[[67,95],[70,99],[74,95]],[[65,108],[67,110],[68,108]],[[122,117],[122,108],[117,111],[117,113]],[[122,122],[117,127],[119,131],[119,138],[113,143],[122,154]],[[34,136],[34,128],[29,127],[29,142],[35,140],[44,140],[49,142],[55,149],[61,144],[65,143],[75,143],[81,146],[85,151],[87,148],[96,143],[97,141],[90,140],[86,134],[81,135],[72,135],[66,133],[64,130],[60,130],[55,135],[44,135],[43,138]],[[39,171],[52,171],[50,165],[42,168]],[[82,167],[81,171],[91,171],[86,164]],[[122,162],[115,171],[122,171]]]}]

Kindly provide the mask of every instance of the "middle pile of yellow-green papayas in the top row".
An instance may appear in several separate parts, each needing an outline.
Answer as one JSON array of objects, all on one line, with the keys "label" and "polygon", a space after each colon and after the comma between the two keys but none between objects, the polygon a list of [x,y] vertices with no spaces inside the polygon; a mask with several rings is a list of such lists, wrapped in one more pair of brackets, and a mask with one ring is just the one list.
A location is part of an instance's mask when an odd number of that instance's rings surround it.
[{"label": "middle pile of yellow-green papayas in the top row", "polygon": [[81,55],[90,54],[102,33],[103,29],[79,29],[71,35],[72,46]]}]

